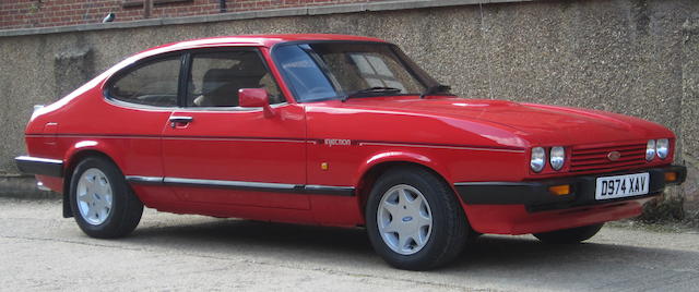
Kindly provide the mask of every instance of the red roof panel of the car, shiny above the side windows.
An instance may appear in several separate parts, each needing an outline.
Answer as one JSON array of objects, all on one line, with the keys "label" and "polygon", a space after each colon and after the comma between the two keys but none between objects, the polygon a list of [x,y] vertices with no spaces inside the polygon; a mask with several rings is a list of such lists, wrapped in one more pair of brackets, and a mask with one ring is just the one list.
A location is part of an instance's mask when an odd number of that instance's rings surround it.
[{"label": "red roof panel of the car, shiny above the side windows", "polygon": [[144,50],[138,54],[156,54],[167,51],[193,49],[193,48],[206,48],[206,47],[223,47],[230,45],[240,46],[257,46],[257,47],[272,47],[280,42],[287,41],[303,41],[303,40],[350,40],[350,41],[379,41],[386,42],[386,40],[372,37],[351,36],[351,35],[331,35],[331,34],[283,34],[283,35],[240,35],[240,36],[220,36],[190,39],[185,41],[177,41],[171,44],[162,45],[147,50]]}]

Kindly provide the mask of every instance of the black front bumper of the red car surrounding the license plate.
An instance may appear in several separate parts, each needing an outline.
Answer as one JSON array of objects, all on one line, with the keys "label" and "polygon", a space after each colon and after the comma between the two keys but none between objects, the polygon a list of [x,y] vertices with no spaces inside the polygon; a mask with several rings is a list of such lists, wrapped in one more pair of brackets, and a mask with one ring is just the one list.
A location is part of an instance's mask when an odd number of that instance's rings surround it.
[{"label": "black front bumper of the red car surrounding the license plate", "polygon": [[[641,172],[650,174],[648,194],[618,199],[595,199],[594,193],[597,178]],[[676,179],[672,182],[666,182],[665,173],[667,172],[675,172]],[[670,166],[637,171],[525,182],[464,182],[455,183],[454,188],[466,205],[524,205],[529,212],[537,212],[652,197],[662,193],[665,185],[680,184],[686,178],[686,167]],[[567,195],[556,195],[549,191],[550,186],[566,184],[570,185],[570,193]]]}]

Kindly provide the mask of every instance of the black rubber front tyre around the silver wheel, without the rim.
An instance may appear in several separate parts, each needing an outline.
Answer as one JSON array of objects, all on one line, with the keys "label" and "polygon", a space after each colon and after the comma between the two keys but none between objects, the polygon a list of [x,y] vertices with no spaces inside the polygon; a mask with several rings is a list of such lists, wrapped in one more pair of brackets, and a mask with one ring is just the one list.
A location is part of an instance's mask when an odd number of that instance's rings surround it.
[{"label": "black rubber front tyre around the silver wheel, without the rim", "polygon": [[[377,216],[381,199],[394,186],[408,185],[422,193],[429,204],[431,231],[424,246],[416,253],[394,252],[379,232]],[[469,222],[459,200],[442,180],[418,167],[393,168],[375,183],[366,206],[366,226],[374,250],[388,264],[399,269],[428,270],[448,264],[463,251]]]}]

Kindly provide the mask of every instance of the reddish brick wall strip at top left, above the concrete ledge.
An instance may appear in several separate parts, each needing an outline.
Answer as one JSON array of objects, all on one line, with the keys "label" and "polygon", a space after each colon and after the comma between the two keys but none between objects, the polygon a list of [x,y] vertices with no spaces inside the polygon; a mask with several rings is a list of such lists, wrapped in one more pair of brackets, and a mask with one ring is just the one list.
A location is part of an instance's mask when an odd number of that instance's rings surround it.
[{"label": "reddish brick wall strip at top left, above the concrete ledge", "polygon": [[[153,0],[151,17],[222,13],[218,0]],[[381,0],[226,0],[226,12],[329,5]],[[107,13],[115,22],[143,20],[141,0],[0,0],[0,29],[99,23]]]}]

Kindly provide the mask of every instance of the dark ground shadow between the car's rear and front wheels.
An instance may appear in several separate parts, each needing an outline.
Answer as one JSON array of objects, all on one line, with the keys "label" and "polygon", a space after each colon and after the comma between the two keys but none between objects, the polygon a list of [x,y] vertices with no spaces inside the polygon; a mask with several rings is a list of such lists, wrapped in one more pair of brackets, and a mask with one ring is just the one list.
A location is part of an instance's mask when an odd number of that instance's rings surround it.
[{"label": "dark ground shadow between the car's rear and front wheels", "polygon": [[211,218],[197,223],[139,227],[123,241],[220,256],[244,252],[262,258],[304,257],[321,261],[352,258],[380,263],[362,228]]}]

